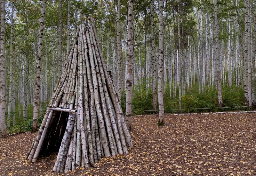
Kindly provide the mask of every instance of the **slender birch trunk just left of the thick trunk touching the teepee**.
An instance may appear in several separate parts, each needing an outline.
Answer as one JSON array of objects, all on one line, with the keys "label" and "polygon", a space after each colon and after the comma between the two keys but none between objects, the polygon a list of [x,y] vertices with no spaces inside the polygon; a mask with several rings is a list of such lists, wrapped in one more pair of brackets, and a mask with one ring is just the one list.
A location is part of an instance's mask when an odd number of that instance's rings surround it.
[{"label": "slender birch trunk just left of the thick trunk touching the teepee", "polygon": [[122,43],[121,43],[121,32],[120,32],[120,9],[121,9],[121,5],[120,5],[120,0],[117,0],[117,81],[118,81],[118,87],[117,87],[117,91],[118,91],[118,99],[119,102],[121,102],[121,96],[122,96],[122,84],[121,84],[121,71],[122,71],[122,67],[121,67],[121,61],[122,61]]}]

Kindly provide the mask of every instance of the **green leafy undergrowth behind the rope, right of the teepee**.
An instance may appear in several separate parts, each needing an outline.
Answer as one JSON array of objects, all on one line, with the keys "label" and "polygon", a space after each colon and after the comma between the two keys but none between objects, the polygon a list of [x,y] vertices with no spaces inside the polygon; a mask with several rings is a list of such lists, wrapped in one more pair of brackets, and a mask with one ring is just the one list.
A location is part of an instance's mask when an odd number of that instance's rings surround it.
[{"label": "green leafy undergrowth behind the rope, right of the teepee", "polygon": [[[147,87],[147,82],[141,85],[133,86],[132,89],[132,115],[153,114],[152,111],[152,89]],[[173,87],[173,85],[172,85]],[[179,112],[179,89],[177,95],[170,95],[170,86],[166,84],[164,92],[164,113]],[[174,99],[175,98],[175,99]],[[158,93],[157,93],[158,99]],[[244,90],[237,86],[222,87],[223,110],[234,111],[244,110]],[[125,112],[126,92],[122,92],[121,106]],[[158,101],[158,100],[157,100]],[[218,107],[218,92],[214,88],[204,88],[204,92],[199,93],[198,85],[193,85],[189,90],[186,88],[186,94],[181,96],[182,113],[198,112],[220,112]],[[232,108],[228,108],[232,107]],[[158,109],[158,102],[157,102]],[[158,112],[158,111],[157,111]]]}]

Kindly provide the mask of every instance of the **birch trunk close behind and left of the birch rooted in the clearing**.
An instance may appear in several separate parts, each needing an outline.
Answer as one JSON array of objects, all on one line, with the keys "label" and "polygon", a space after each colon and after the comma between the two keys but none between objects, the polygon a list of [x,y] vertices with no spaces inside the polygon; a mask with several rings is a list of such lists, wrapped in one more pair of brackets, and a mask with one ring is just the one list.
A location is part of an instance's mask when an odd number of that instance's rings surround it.
[{"label": "birch trunk close behind and left of the birch rooted in the clearing", "polygon": [[156,40],[155,40],[155,10],[154,0],[150,0],[150,12],[151,12],[151,54],[152,54],[152,79],[153,79],[153,107],[156,112]]}]

